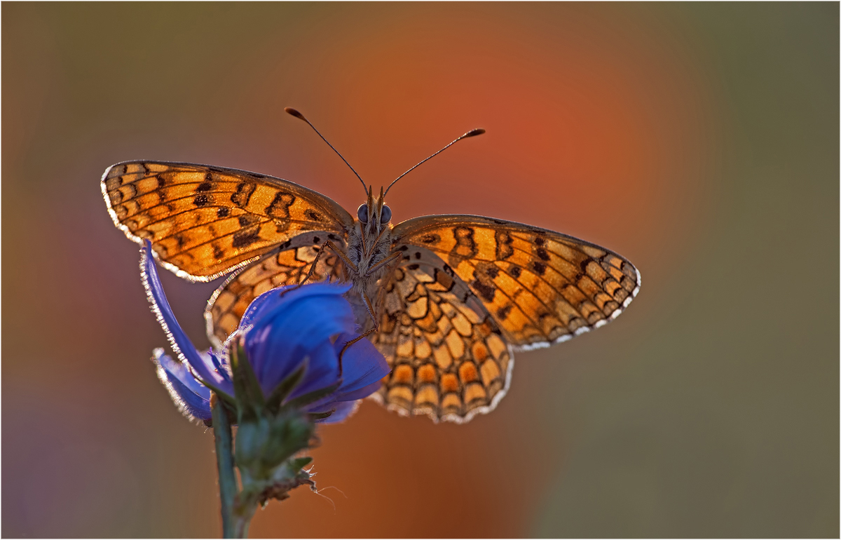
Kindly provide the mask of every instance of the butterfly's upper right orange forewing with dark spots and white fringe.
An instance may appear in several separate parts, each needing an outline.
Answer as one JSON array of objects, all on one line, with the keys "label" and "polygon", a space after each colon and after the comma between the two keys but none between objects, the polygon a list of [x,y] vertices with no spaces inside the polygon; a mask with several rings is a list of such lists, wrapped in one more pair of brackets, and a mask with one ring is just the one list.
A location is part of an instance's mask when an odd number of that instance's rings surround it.
[{"label": "butterfly's upper right orange forewing with dark spots and white fringe", "polygon": [[639,272],[624,257],[530,225],[431,215],[396,225],[392,236],[394,246],[424,247],[446,262],[515,350],[605,325],[639,291]]}]

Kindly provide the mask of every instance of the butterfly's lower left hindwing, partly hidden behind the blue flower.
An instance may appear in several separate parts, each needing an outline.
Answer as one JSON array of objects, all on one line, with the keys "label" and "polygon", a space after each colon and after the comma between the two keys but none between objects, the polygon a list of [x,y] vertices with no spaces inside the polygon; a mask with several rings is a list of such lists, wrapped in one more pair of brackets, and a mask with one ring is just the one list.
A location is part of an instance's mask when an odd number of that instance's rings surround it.
[{"label": "butterfly's lower left hindwing, partly hidden behind the blue flower", "polygon": [[[226,279],[210,297],[204,311],[210,341],[217,346],[224,343],[239,326],[248,304],[258,295],[283,285],[301,283],[327,237],[331,237],[336,246],[344,246],[344,241],[326,231],[303,233]],[[310,281],[325,276],[341,280],[344,278],[342,268],[339,257],[325,251],[319,257]]]}]

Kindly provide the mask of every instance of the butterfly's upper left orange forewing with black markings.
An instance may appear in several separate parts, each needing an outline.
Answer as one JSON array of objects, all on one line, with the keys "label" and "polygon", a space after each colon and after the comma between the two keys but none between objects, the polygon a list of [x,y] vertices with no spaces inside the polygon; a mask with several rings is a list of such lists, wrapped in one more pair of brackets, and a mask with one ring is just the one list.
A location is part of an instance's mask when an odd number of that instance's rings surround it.
[{"label": "butterfly's upper left orange forewing with black markings", "polygon": [[105,170],[108,213],[131,241],[149,239],[163,266],[210,281],[317,230],[344,238],[350,214],[311,189],[254,172],[167,161]]}]

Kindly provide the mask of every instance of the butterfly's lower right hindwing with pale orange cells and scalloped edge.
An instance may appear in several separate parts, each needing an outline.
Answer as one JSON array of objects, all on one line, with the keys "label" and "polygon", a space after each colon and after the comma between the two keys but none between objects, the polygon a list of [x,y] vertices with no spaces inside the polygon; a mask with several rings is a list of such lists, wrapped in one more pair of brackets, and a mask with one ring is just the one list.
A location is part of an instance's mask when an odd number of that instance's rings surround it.
[{"label": "butterfly's lower right hindwing with pale orange cells and scalloped edge", "polygon": [[432,251],[413,247],[380,294],[371,341],[392,367],[373,399],[403,415],[464,422],[493,410],[514,355],[500,327]]}]

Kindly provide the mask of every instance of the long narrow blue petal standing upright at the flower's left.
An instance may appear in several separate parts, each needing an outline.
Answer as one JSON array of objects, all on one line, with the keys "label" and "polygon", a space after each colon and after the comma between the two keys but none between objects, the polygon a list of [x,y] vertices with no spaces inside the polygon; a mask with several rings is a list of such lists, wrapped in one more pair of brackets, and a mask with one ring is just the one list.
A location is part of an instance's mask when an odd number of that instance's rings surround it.
[{"label": "long narrow blue petal standing upright at the flower's left", "polygon": [[167,296],[163,292],[163,287],[161,287],[161,279],[158,278],[155,261],[151,256],[151,246],[151,242],[147,240],[140,249],[140,273],[143,278],[143,286],[146,289],[146,296],[149,298],[152,310],[157,315],[158,322],[161,323],[163,330],[167,333],[172,350],[186,360],[201,379],[233,395],[233,384],[230,384],[219,373],[215,373],[213,369],[209,368],[196,347],[193,347],[193,342],[182,331],[181,326],[178,326],[175,314],[172,313],[172,308],[169,307],[169,302],[167,302]]}]

